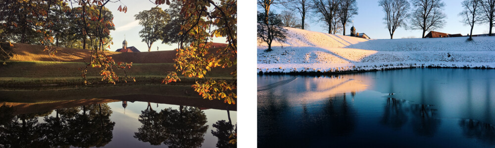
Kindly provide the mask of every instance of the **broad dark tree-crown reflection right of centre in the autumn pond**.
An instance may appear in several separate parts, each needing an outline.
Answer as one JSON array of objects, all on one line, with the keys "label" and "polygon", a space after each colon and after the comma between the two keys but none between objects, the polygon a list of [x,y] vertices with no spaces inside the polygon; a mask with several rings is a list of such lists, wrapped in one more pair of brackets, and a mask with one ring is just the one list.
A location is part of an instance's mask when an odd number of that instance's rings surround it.
[{"label": "broad dark tree-crown reflection right of centre in the autumn pond", "polygon": [[208,129],[204,111],[195,107],[180,106],[179,110],[172,108],[153,111],[151,106],[141,111],[139,121],[143,124],[134,138],[152,145],[161,143],[169,148],[198,148],[204,141]]}]

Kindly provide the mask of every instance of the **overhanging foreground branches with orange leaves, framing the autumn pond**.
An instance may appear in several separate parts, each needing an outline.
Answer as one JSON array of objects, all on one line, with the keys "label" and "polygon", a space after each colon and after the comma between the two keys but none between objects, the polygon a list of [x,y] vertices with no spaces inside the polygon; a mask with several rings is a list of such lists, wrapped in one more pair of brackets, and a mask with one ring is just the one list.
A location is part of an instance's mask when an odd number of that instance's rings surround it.
[{"label": "overhanging foreground branches with orange leaves, framing the autumn pond", "polygon": [[[225,103],[235,104],[237,99],[237,71],[231,73],[231,80],[216,80],[205,77],[205,74],[212,68],[221,67],[227,68],[237,65],[237,0],[176,0],[180,1],[182,8],[180,15],[185,21],[181,25],[181,31],[178,36],[181,38],[191,37],[194,40],[191,43],[184,45],[184,48],[179,47],[175,58],[176,72],[186,76],[197,78],[196,83],[192,85],[196,92],[205,99],[223,99]],[[119,81],[127,82],[127,80],[135,80],[125,73],[125,69],[131,68],[132,63],[116,62],[112,57],[101,52],[104,49],[110,48],[108,43],[111,43],[110,30],[114,27],[112,18],[106,18],[105,5],[108,2],[120,2],[121,5],[117,8],[118,11],[127,12],[127,6],[121,1],[111,0],[13,0],[5,1],[6,5],[24,4],[25,11],[35,16],[40,20],[35,26],[40,28],[37,33],[43,36],[40,42],[47,44],[45,51],[51,56],[58,51],[57,48],[51,46],[54,40],[54,35],[49,31],[49,24],[52,19],[49,17],[48,11],[50,6],[56,6],[58,9],[68,12],[72,5],[80,7],[80,12],[77,13],[79,21],[82,23],[81,34],[89,37],[88,43],[92,47],[91,57],[89,62],[85,63],[85,67],[81,70],[81,76],[85,84],[91,84],[87,80],[86,74],[88,68],[99,68],[102,75],[101,81],[115,84]],[[38,3],[49,5],[44,7]],[[70,3],[70,4],[68,4]],[[155,0],[154,4],[170,4],[169,0]],[[70,6],[69,6],[70,5]],[[15,11],[18,7],[7,7],[10,12]],[[97,11],[93,11],[97,10]],[[8,24],[6,22],[0,22]],[[15,26],[15,25],[14,25]],[[91,32],[94,30],[97,32]],[[10,37],[10,36],[9,36]],[[213,37],[225,37],[227,46],[210,49],[211,39]],[[86,40],[83,42],[85,46]],[[116,70],[124,71],[124,75],[117,75]],[[171,72],[163,79],[163,83],[180,80],[176,72]]]}]

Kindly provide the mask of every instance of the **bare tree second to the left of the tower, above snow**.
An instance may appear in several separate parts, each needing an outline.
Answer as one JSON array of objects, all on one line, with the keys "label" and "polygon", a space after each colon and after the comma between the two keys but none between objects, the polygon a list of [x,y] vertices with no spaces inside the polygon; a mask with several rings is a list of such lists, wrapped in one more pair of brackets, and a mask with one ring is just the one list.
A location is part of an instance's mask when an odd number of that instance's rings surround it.
[{"label": "bare tree second to the left of the tower, above snow", "polygon": [[334,25],[337,24],[338,16],[338,4],[339,0],[313,0],[314,3],[314,11],[319,15],[318,21],[325,22],[325,27],[328,27],[328,33],[335,34],[336,27]]}]

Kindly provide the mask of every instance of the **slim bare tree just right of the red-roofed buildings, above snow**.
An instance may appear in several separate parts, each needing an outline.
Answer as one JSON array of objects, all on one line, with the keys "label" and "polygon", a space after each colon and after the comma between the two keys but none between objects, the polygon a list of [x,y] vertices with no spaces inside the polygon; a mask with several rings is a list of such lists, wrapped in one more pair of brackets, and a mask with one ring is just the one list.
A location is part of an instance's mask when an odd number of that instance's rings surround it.
[{"label": "slim bare tree just right of the red-roofed buildings, above snow", "polygon": [[480,16],[479,16],[480,6],[481,6],[480,0],[462,1],[462,7],[464,7],[464,10],[462,10],[462,12],[459,13],[459,16],[463,17],[463,20],[461,21],[462,23],[471,26],[471,32],[469,33],[468,40],[473,40],[474,24],[479,23],[480,20]]}]

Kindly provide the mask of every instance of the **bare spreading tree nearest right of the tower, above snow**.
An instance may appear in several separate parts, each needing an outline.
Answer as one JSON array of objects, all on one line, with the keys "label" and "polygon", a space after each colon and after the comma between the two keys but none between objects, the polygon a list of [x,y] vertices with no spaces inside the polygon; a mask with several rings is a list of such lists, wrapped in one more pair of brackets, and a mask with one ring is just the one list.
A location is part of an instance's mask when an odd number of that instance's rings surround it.
[{"label": "bare spreading tree nearest right of the tower, above snow", "polygon": [[409,16],[407,11],[410,8],[407,0],[380,0],[379,5],[383,7],[385,17],[383,20],[389,29],[390,39],[394,38],[396,29],[405,26],[405,19]]}]

